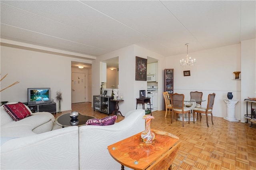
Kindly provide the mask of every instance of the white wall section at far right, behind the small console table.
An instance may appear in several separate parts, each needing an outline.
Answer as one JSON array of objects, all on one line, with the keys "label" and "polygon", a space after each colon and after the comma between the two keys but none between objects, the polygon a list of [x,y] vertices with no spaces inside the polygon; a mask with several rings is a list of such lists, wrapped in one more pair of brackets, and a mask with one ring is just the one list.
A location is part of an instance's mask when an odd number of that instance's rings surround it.
[{"label": "white wall section at far right, behind the small console table", "polygon": [[[241,42],[241,99],[256,97],[256,39]],[[252,108],[256,108],[256,103]],[[250,103],[248,103],[248,114],[251,114]],[[241,122],[246,121],[246,102],[242,101]]]}]

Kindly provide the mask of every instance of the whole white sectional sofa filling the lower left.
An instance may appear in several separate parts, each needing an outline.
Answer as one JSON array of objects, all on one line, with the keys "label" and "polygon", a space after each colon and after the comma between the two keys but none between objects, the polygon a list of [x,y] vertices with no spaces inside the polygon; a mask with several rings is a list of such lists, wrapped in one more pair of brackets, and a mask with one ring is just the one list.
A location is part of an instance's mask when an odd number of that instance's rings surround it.
[{"label": "whole white sectional sofa filling the lower left", "polygon": [[[12,121],[2,127],[1,120],[1,140],[8,134],[8,128],[10,133],[14,129],[18,132],[7,136],[11,138],[1,145],[0,169],[119,170],[121,165],[110,156],[107,146],[145,130],[144,115],[145,111],[138,109],[126,113],[125,119],[114,125],[74,126],[48,132],[42,132],[47,127],[45,123],[43,127],[36,127],[31,122],[36,115],[20,120],[24,120],[27,125],[18,125],[22,123]],[[7,124],[16,125],[11,127]],[[36,134],[36,128],[32,127],[41,129],[39,131],[42,133]]]}]

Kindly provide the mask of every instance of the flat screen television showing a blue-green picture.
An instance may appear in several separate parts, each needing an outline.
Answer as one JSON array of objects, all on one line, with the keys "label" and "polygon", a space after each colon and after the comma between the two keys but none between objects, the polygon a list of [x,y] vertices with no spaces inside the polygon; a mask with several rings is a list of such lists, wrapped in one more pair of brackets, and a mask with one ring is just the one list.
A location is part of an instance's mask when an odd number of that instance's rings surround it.
[{"label": "flat screen television showing a blue-green picture", "polygon": [[28,88],[28,105],[51,103],[50,88]]}]

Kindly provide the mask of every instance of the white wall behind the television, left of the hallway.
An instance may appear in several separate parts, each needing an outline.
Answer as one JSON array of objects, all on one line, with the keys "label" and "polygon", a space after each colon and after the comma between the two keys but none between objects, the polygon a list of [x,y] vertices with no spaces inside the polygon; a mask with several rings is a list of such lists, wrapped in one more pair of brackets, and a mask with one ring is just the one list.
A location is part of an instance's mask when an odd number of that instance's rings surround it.
[{"label": "white wall behind the television, left of the hallway", "polygon": [[[27,88],[50,87],[51,98],[62,92],[62,111],[71,110],[71,61],[91,63],[89,60],[65,57],[38,51],[1,45],[1,89],[20,83],[1,92],[1,101],[27,102]],[[58,111],[58,105],[57,105]]]}]

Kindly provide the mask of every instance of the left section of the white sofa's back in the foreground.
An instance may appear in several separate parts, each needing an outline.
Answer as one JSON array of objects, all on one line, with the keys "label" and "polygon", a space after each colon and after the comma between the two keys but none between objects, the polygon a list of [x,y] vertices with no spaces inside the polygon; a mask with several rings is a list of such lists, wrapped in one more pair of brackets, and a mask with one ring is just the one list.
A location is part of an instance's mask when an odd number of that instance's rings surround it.
[{"label": "left section of the white sofa's back in the foreground", "polygon": [[1,169],[79,169],[78,127],[14,138],[1,146]]}]

